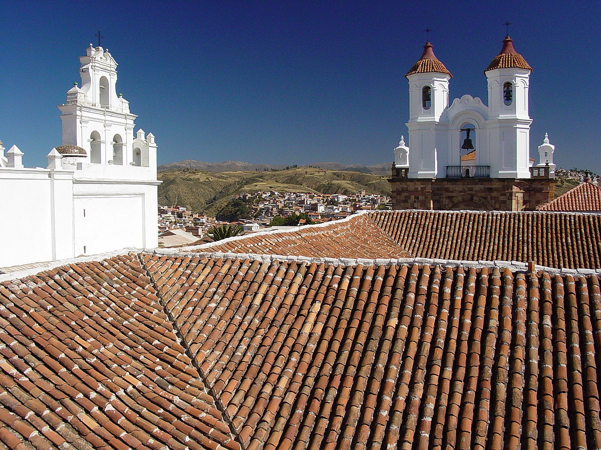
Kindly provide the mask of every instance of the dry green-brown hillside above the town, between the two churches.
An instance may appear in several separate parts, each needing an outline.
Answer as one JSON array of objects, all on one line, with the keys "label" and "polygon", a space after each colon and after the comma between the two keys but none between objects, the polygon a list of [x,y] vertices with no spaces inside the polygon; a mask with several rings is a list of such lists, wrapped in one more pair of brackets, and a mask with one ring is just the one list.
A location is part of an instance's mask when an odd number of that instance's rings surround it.
[{"label": "dry green-brown hillside above the town, between the two churches", "polygon": [[367,193],[390,195],[384,176],[344,170],[298,167],[275,172],[209,172],[166,170],[158,174],[159,205],[186,206],[193,212],[214,215],[227,200],[243,192],[297,191],[323,194]]}]

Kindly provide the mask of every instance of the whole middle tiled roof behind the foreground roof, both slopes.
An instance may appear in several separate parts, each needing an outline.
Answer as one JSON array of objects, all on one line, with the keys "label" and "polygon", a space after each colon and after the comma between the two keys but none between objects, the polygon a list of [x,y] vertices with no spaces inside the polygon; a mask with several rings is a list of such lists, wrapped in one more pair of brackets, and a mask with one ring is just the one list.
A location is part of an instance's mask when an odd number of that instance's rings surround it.
[{"label": "whole middle tiled roof behind the foreground roof, both slopes", "polygon": [[518,261],[601,269],[601,215],[510,211],[379,211],[255,233],[192,251],[304,257]]}]

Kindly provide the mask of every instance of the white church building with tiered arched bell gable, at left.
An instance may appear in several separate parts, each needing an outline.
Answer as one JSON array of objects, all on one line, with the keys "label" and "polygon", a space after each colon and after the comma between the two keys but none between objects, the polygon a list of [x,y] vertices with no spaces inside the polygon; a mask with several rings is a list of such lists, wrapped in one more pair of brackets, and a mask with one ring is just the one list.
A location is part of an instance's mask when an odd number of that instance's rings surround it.
[{"label": "white church building with tiered arched bell gable, at left", "polygon": [[136,115],[117,93],[117,62],[90,47],[81,88],[58,106],[63,143],[47,167],[23,166],[23,152],[0,143],[0,190],[13,218],[0,221],[0,267],[157,247],[154,136],[133,133]]}]

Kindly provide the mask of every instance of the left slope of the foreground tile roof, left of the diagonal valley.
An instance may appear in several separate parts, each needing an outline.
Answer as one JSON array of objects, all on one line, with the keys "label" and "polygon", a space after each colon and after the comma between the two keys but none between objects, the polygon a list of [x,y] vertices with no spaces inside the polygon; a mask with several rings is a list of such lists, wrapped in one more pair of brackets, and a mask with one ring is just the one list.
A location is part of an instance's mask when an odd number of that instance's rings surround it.
[{"label": "left slope of the foreground tile roof, left of the diagonal valley", "polygon": [[0,442],[239,448],[135,256],[0,283]]}]

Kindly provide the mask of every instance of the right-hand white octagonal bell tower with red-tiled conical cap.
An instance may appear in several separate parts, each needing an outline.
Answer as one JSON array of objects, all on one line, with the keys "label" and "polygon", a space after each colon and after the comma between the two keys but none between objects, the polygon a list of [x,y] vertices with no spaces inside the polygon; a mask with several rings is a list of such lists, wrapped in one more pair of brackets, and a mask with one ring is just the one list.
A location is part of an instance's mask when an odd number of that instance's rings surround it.
[{"label": "right-hand white octagonal bell tower with red-tiled conical cap", "polygon": [[495,56],[484,74],[488,81],[491,166],[498,172],[493,178],[530,178],[528,158],[530,124],[528,85],[532,67],[513,48],[509,36],[503,40],[501,52]]}]

